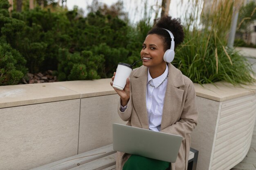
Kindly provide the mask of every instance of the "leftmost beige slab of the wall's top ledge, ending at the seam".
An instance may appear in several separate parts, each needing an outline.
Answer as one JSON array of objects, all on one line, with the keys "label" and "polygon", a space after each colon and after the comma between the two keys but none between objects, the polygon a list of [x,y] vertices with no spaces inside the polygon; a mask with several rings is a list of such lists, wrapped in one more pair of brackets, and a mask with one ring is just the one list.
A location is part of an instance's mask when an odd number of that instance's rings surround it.
[{"label": "leftmost beige slab of the wall's top ledge, ending at the seam", "polygon": [[79,98],[79,93],[53,83],[0,86],[0,108]]}]

